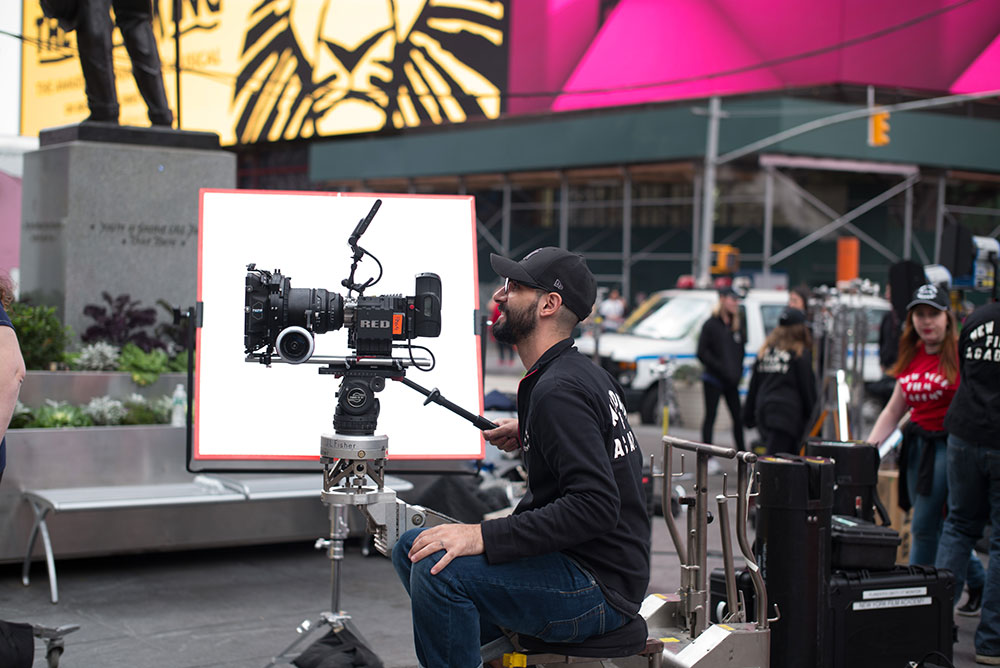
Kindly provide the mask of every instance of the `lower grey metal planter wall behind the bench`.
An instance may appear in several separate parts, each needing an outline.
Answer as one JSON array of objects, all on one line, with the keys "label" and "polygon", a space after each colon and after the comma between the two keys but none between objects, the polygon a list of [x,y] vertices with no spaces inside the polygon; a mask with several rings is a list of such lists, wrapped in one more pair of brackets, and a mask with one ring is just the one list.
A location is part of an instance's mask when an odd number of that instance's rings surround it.
[{"label": "lower grey metal planter wall behind the bench", "polygon": [[[9,430],[7,471],[0,486],[0,562],[24,557],[33,516],[21,499],[22,490],[189,481],[186,462],[183,427]],[[317,489],[314,499],[56,514],[49,529],[61,559],[313,541],[328,534],[330,526]],[[39,542],[35,557],[41,555]]]}]

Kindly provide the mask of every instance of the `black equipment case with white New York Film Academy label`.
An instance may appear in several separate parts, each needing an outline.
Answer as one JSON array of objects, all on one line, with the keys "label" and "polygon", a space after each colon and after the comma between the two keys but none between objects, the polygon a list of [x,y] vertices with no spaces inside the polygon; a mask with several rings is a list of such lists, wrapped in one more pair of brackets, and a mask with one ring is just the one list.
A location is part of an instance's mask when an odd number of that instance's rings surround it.
[{"label": "black equipment case with white New York Film Academy label", "polygon": [[897,566],[834,571],[830,578],[830,668],[886,668],[930,652],[952,658],[951,571]]}]

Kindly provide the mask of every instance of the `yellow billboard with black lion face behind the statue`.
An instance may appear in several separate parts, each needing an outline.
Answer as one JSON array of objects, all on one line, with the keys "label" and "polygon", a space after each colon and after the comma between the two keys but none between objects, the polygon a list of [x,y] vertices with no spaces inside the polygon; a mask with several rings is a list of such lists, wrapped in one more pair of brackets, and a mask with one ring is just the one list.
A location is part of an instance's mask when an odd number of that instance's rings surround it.
[{"label": "yellow billboard with black lion face behind the statue", "polygon": [[[250,144],[497,118],[508,14],[507,0],[154,0],[153,30],[180,127]],[[23,17],[21,134],[84,120],[75,32],[32,0]],[[119,120],[149,125],[113,41]]]}]

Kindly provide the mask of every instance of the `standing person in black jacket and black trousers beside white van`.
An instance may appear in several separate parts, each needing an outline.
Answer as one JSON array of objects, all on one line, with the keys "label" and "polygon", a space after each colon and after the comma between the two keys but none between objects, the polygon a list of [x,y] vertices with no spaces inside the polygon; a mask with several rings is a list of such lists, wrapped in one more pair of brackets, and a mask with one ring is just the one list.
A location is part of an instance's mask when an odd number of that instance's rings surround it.
[{"label": "standing person in black jacket and black trousers beside white van", "polygon": [[736,447],[746,450],[743,443],[743,421],[740,411],[740,378],[743,377],[744,337],[740,326],[740,302],[736,291],[723,288],[712,317],[702,325],[698,336],[698,360],[701,362],[702,388],[705,393],[705,420],[701,424],[701,440],[712,443],[715,412],[719,398],[733,418],[733,439]]}]

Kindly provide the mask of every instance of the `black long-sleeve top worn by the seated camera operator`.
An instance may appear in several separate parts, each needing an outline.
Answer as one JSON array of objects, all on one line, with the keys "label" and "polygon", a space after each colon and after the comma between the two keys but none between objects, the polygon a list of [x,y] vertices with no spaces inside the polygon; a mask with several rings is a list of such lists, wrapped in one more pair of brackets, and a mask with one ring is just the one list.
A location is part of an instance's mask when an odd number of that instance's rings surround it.
[{"label": "black long-sleeve top worn by the seated camera operator", "polygon": [[552,346],[517,391],[528,490],[514,514],[483,522],[490,563],[562,552],[635,615],[649,585],[642,453],[621,387],[577,352]]}]

